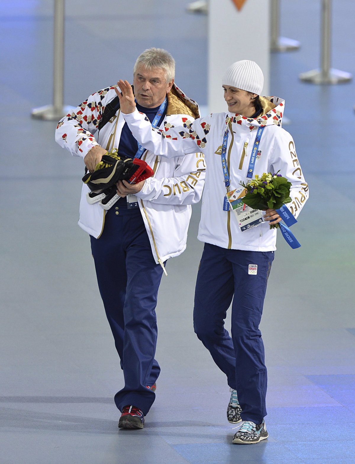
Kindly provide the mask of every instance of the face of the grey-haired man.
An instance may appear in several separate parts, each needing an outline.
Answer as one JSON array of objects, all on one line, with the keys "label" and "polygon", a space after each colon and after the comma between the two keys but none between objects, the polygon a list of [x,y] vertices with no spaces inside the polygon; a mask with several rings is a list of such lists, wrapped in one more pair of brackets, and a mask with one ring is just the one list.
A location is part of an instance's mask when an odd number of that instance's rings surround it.
[{"label": "face of the grey-haired man", "polygon": [[170,92],[174,79],[166,82],[162,68],[146,69],[139,64],[133,77],[134,95],[139,105],[145,108],[160,106],[167,93]]}]

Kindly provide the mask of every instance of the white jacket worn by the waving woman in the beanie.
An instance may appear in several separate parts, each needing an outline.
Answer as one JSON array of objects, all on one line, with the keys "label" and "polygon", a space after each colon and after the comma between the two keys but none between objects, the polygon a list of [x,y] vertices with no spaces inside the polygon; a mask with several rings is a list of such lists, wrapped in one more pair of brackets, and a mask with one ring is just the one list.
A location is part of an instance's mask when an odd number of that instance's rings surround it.
[{"label": "white jacket worn by the waving woman in the beanie", "polygon": [[223,211],[226,187],[221,153],[226,126],[229,131],[226,159],[231,190],[239,188],[242,191],[240,182],[247,180],[257,128],[265,126],[254,175],[279,171],[292,183],[292,202],[286,206],[295,218],[308,198],[308,186],[299,165],[295,144],[291,135],[281,128],[284,100],[260,97],[260,103],[263,116],[256,119],[238,114],[216,113],[187,121],[183,127],[169,128],[164,132],[152,129],[138,110],[124,115],[137,140],[158,155],[173,157],[181,151],[192,153],[197,149],[205,154],[208,168],[198,232],[198,238],[203,242],[237,250],[276,250],[276,229],[270,230],[268,222],[241,232],[235,213]]}]

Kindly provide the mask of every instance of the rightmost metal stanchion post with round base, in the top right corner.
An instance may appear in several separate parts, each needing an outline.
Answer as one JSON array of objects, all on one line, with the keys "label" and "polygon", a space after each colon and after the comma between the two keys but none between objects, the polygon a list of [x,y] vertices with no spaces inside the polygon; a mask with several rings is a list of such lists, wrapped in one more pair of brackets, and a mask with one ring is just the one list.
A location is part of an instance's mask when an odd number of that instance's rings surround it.
[{"label": "rightmost metal stanchion post with round base, in the top right corner", "polygon": [[322,0],[322,69],[314,69],[313,71],[303,72],[299,75],[301,81],[311,82],[312,84],[340,84],[343,82],[349,82],[352,79],[352,75],[349,72],[330,68],[330,20],[331,0]]}]

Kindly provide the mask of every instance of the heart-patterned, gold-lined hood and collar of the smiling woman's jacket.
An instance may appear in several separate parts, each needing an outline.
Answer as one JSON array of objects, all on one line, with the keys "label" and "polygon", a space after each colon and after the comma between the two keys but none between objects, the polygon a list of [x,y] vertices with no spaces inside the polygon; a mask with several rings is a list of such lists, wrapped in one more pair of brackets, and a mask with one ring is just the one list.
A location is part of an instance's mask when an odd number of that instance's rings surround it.
[{"label": "heart-patterned, gold-lined hood and collar of the smiling woman's jacket", "polygon": [[262,115],[257,118],[241,116],[240,114],[228,115],[232,122],[248,126],[250,130],[258,126],[282,126],[285,100],[279,97],[259,97]]}]

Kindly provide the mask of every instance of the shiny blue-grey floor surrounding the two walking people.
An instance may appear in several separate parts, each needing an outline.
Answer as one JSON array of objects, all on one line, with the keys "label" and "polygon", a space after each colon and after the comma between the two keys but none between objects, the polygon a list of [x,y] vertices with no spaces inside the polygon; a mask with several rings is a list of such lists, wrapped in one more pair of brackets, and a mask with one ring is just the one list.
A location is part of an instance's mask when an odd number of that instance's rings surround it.
[{"label": "shiny blue-grey floor surrounding the two walking people", "polygon": [[[355,82],[298,80],[320,64],[321,2],[280,2],[280,34],[301,48],[271,56],[311,198],[292,228],[302,247],[278,239],[261,326],[269,438],[254,446],[230,444],[226,379],[192,328],[199,206],[159,290],[156,401],[143,430],[117,428],[123,376],[76,225],[83,163],[56,145],[55,122],[30,117],[52,102],[53,3],[0,0],[1,464],[354,463]],[[207,16],[188,4],[66,2],[64,103],[130,79],[136,56],[158,46],[206,105]],[[355,75],[355,3],[332,9],[332,66]]]}]

